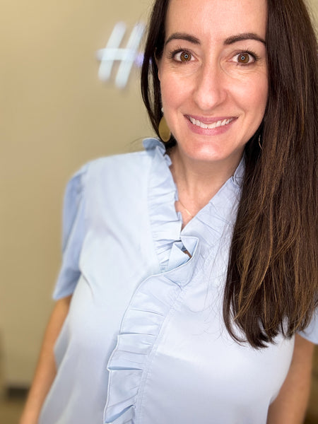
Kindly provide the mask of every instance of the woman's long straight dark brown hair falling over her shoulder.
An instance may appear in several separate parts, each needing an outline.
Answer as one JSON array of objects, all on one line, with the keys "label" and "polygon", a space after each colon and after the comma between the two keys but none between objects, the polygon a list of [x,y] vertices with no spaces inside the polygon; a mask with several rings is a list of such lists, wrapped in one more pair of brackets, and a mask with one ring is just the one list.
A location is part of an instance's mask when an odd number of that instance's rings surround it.
[{"label": "woman's long straight dark brown hair falling over her shoulder", "polygon": [[[141,72],[157,134],[162,114],[155,57],[163,52],[168,3],[155,1]],[[238,326],[255,348],[305,329],[318,303],[317,39],[302,0],[267,4],[269,99],[245,147],[223,302],[231,336],[242,341]],[[167,148],[173,144],[172,136]]]}]

